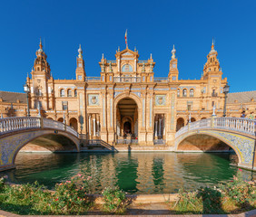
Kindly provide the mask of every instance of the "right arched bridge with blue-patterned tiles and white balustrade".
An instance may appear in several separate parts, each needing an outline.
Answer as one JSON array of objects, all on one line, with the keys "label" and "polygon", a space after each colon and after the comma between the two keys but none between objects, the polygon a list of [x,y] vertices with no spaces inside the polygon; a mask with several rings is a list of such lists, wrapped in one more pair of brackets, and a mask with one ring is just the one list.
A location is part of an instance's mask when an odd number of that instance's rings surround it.
[{"label": "right arched bridge with blue-patterned tiles and white balustrade", "polygon": [[207,118],[189,123],[175,135],[175,151],[192,136],[206,135],[220,139],[231,146],[239,158],[239,166],[256,170],[255,129],[256,121],[247,118]]}]

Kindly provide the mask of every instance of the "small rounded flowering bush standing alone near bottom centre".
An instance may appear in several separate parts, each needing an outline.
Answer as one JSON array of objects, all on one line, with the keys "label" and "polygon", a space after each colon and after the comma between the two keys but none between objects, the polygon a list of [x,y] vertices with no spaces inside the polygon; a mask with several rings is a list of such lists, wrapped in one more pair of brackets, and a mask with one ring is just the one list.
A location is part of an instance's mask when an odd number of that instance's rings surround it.
[{"label": "small rounded flowering bush standing alone near bottom centre", "polygon": [[126,211],[127,200],[125,193],[118,187],[107,187],[103,190],[103,208],[106,212],[123,213]]}]

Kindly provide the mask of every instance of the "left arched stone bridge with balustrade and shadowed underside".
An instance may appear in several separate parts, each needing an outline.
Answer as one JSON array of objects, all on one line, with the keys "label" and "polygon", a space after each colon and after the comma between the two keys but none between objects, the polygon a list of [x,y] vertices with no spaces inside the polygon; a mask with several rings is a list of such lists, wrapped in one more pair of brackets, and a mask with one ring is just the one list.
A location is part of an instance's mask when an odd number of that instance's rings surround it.
[{"label": "left arched stone bridge with balustrade and shadowed underside", "polygon": [[47,118],[15,117],[0,119],[0,171],[15,167],[19,150],[32,142],[51,151],[80,151],[73,127]]}]

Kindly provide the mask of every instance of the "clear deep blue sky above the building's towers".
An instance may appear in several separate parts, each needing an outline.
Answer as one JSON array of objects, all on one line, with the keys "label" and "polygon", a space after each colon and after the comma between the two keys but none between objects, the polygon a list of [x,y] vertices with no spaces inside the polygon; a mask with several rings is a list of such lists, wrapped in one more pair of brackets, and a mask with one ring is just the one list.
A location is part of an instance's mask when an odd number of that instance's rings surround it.
[{"label": "clear deep blue sky above the building's towers", "polygon": [[100,76],[102,53],[117,47],[140,59],[153,53],[155,77],[167,77],[172,44],[180,79],[200,79],[212,37],[231,92],[256,90],[256,1],[34,1],[0,4],[0,90],[23,91],[39,38],[54,79],[75,78],[79,43],[87,76]]}]

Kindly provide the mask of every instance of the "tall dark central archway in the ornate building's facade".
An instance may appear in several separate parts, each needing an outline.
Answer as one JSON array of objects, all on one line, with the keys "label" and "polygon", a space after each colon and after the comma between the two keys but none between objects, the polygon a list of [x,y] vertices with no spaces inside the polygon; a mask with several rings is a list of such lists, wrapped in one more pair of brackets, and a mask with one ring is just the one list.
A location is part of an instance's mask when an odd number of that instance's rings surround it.
[{"label": "tall dark central archway in the ornate building's facade", "polygon": [[138,106],[131,98],[121,99],[116,105],[116,137],[138,138]]}]

